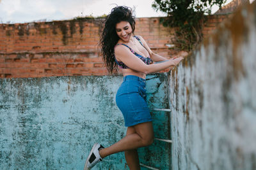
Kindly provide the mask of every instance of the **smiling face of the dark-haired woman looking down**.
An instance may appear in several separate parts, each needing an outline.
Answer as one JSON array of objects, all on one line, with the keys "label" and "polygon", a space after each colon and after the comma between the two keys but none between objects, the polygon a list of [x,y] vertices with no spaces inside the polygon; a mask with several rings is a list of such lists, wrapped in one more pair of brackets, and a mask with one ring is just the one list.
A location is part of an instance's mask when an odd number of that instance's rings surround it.
[{"label": "smiling face of the dark-haired woman looking down", "polygon": [[131,38],[132,27],[131,24],[127,21],[121,21],[116,24],[116,34],[120,39],[125,42],[128,42]]}]

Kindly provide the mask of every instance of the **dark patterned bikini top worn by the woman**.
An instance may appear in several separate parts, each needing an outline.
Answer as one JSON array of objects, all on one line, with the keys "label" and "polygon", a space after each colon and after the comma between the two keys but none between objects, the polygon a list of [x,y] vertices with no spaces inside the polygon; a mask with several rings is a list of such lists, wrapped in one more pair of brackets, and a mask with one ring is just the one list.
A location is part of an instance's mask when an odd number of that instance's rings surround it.
[{"label": "dark patterned bikini top worn by the woman", "polygon": [[[143,46],[143,44],[141,43],[140,38],[138,38],[138,36],[134,36],[134,38],[138,39],[138,41],[140,42],[140,44]],[[122,43],[122,44],[116,44],[116,46],[117,46],[117,45],[124,45],[124,46],[127,46],[127,45],[125,45],[125,44],[123,44],[123,43]],[[115,47],[116,47],[116,46],[115,46]],[[145,48],[145,46],[143,46],[143,47]],[[134,50],[132,50],[131,47],[127,46],[127,48],[129,48],[129,49],[131,50],[131,52],[132,52],[134,55],[136,55],[139,59],[141,59],[143,62],[145,62],[145,64],[148,65],[148,64],[152,64],[152,63],[153,63],[153,60],[150,59],[150,56],[149,56],[149,55],[148,55],[148,57],[146,58],[146,57],[143,57],[142,55],[140,55],[140,54],[134,52]],[[122,69],[129,69],[129,67],[124,64],[124,62],[116,60],[116,57],[115,57],[115,61],[116,61],[116,64],[117,64],[120,68],[122,68]]]}]

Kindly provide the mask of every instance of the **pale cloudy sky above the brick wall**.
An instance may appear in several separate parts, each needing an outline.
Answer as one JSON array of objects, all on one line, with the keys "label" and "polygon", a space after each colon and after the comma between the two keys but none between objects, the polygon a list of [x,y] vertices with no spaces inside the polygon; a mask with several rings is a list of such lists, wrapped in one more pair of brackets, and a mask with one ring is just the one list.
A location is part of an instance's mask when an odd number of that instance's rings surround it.
[{"label": "pale cloudy sky above the brick wall", "polygon": [[[229,3],[232,0],[228,0]],[[253,1],[253,0],[250,0]],[[108,15],[120,5],[134,8],[136,17],[164,17],[152,8],[154,0],[0,0],[0,24],[69,20]],[[218,8],[214,8],[214,11]]]}]

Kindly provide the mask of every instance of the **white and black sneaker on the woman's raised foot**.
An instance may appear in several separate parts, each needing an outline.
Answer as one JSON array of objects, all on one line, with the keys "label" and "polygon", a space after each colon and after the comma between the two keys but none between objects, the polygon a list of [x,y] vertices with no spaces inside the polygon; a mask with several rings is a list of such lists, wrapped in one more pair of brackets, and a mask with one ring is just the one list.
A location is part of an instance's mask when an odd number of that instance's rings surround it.
[{"label": "white and black sneaker on the woman's raised foot", "polygon": [[99,150],[103,149],[104,147],[99,145],[99,143],[95,143],[92,146],[92,150],[90,154],[88,155],[88,158],[86,159],[84,170],[89,170],[93,166],[95,166],[98,162],[102,161],[102,158],[100,157]]}]

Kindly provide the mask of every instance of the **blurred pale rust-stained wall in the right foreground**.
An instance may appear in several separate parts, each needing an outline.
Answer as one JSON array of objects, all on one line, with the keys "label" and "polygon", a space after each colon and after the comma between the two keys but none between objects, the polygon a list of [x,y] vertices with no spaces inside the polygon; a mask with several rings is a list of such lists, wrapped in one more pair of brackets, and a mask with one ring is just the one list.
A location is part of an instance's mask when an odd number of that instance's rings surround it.
[{"label": "blurred pale rust-stained wall in the right foreground", "polygon": [[256,3],[170,73],[172,169],[256,169]]}]

